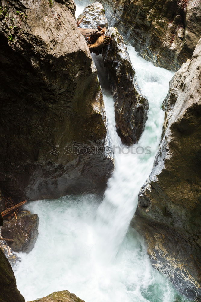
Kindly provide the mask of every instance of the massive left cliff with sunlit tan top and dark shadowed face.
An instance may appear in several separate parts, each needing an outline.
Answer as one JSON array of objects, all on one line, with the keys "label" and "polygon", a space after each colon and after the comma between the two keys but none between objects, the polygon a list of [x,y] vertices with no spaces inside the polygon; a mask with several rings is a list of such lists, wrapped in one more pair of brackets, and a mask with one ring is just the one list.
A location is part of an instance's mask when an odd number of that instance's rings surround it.
[{"label": "massive left cliff with sunlit tan top and dark shadowed face", "polygon": [[105,108],[74,2],[0,6],[0,188],[20,200],[103,190]]}]

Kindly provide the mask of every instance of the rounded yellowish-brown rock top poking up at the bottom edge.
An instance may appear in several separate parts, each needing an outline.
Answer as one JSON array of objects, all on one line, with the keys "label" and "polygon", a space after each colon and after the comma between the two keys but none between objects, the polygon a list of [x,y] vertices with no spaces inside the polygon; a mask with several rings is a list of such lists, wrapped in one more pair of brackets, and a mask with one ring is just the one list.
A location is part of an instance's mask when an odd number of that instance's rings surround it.
[{"label": "rounded yellowish-brown rock top poking up at the bottom edge", "polygon": [[69,291],[57,291],[54,292],[47,297],[43,297],[39,300],[34,300],[30,302],[84,302],[79,297],[77,297],[75,294],[71,294]]}]

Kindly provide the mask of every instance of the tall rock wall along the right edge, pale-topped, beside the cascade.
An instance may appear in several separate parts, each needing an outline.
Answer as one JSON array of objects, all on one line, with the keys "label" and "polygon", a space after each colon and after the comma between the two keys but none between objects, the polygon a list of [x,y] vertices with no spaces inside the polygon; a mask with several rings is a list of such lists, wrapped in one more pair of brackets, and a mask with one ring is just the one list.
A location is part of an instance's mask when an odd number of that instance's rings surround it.
[{"label": "tall rock wall along the right edge, pale-topped, beside the cascade", "polygon": [[201,300],[201,39],[170,83],[154,168],[132,221],[152,265],[187,297]]}]

